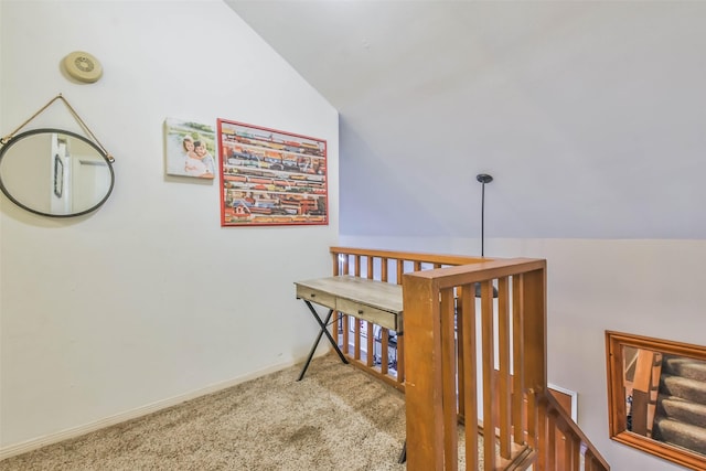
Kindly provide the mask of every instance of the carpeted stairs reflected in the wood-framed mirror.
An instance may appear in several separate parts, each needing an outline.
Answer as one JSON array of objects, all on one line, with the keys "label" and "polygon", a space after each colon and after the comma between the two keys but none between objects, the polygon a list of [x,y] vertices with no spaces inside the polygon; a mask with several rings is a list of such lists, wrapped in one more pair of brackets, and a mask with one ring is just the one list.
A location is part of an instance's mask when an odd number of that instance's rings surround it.
[{"label": "carpeted stairs reflected in the wood-framed mirror", "polygon": [[652,438],[706,454],[706,362],[664,355]]}]

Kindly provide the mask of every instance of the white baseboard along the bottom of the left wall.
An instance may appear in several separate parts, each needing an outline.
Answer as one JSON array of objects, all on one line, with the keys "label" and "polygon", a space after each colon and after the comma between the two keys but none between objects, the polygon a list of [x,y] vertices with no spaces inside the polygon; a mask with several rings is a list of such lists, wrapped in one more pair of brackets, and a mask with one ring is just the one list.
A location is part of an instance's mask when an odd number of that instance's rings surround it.
[{"label": "white baseboard along the bottom of the left wall", "polygon": [[248,373],[246,375],[228,379],[222,383],[216,383],[211,386],[206,386],[201,389],[193,390],[191,393],[182,394],[179,396],[170,397],[167,399],[158,400],[157,403],[148,404],[142,407],[138,407],[137,409],[127,410],[125,413],[116,414],[114,416],[109,416],[103,418],[100,420],[96,420],[94,422],[84,424],[78,427],[73,427],[66,430],[62,430],[55,433],[45,435],[39,438],[33,438],[31,440],[22,441],[20,443],[10,445],[7,447],[0,448],[0,461],[6,458],[14,457],[18,454],[26,453],[28,451],[36,450],[38,448],[45,447],[47,445],[57,443],[60,441],[68,440],[71,438],[76,438],[82,435],[89,433],[92,431],[99,430],[101,428],[106,428],[116,424],[120,424],[127,420],[132,420],[138,417],[146,416],[148,414],[156,413],[161,409],[165,409],[168,407],[175,406],[178,404],[184,403],[186,400],[195,399],[196,397],[205,396],[206,394],[216,393],[221,389],[225,389],[231,386],[238,385],[240,383],[245,383],[250,379],[258,378],[260,376],[278,372],[280,370],[288,368],[290,366],[296,365],[297,363],[303,362],[303,358],[296,360],[287,363],[280,363],[277,365],[270,365],[266,368],[258,370],[256,372]]}]

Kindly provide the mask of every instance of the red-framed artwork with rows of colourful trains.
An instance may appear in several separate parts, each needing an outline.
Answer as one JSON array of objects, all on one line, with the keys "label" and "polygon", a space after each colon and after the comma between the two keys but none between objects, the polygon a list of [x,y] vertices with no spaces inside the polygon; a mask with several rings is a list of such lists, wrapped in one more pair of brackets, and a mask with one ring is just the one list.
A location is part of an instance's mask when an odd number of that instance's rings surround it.
[{"label": "red-framed artwork with rows of colourful trains", "polygon": [[221,225],[327,225],[327,141],[217,120]]}]

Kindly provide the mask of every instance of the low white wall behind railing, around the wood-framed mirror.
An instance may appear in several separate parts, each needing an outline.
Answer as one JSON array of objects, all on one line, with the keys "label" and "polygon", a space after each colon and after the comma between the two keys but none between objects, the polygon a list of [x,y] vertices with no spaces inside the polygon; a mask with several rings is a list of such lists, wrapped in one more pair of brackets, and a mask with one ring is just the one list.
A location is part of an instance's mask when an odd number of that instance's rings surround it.
[{"label": "low white wall behind railing, around the wood-framed mirror", "polygon": [[[342,246],[477,255],[479,239],[340,236]],[[703,345],[706,240],[486,239],[491,257],[547,260],[548,381],[614,470],[677,470],[608,438],[605,331]]]}]

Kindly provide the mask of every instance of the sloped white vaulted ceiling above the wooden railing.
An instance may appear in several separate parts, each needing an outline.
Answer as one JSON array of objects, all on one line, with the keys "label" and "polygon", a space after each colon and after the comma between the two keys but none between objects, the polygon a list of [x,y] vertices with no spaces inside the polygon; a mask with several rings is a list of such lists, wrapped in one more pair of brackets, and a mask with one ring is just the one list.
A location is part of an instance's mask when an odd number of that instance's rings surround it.
[{"label": "sloped white vaulted ceiling above the wooden railing", "polygon": [[[340,232],[706,238],[706,2],[226,0],[340,113]],[[237,44],[234,44],[237,49]]]}]

